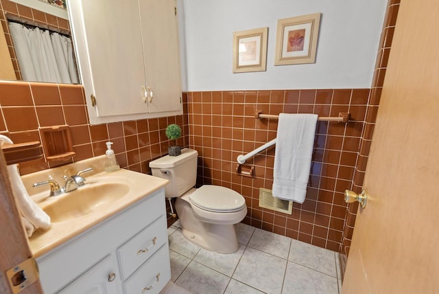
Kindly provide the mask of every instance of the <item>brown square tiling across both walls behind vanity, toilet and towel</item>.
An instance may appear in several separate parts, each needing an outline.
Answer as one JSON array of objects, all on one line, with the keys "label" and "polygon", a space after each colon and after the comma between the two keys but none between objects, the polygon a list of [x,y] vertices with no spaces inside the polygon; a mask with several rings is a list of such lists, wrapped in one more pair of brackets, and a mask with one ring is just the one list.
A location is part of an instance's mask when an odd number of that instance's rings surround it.
[{"label": "brown square tiling across both walls behind vanity, toilet and towel", "polygon": [[[0,133],[16,143],[40,140],[38,128],[69,124],[78,161],[103,155],[110,139],[122,168],[150,172],[148,163],[167,153],[167,124],[182,126],[180,146],[200,153],[198,184],[224,185],[243,194],[248,205],[244,222],[320,247],[337,250],[344,229],[342,192],[353,187],[370,89],[224,91],[184,93],[184,115],[91,125],[82,86],[0,81]],[[263,113],[350,112],[348,124],[318,122],[307,200],[293,214],[258,205],[259,188],[272,188],[274,148],[248,161],[254,179],[235,174],[236,157],[276,137],[276,120],[256,120]],[[189,136],[189,133],[191,134]],[[50,163],[56,166],[69,161]],[[27,174],[49,168],[43,159],[21,164]],[[169,219],[169,223],[172,220]]]}]

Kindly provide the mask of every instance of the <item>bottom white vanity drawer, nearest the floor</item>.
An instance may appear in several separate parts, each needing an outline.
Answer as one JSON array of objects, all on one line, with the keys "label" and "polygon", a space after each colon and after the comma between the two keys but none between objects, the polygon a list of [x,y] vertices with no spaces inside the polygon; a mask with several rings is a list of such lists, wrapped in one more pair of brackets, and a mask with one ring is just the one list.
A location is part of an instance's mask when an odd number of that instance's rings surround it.
[{"label": "bottom white vanity drawer, nearest the floor", "polygon": [[157,294],[169,280],[171,280],[169,247],[165,244],[128,280],[123,282],[123,291],[126,294]]}]

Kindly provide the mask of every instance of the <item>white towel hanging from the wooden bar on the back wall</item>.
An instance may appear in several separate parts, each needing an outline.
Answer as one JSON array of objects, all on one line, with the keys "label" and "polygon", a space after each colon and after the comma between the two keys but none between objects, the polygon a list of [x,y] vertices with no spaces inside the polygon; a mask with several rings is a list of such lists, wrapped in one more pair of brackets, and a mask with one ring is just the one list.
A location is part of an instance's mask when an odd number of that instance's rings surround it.
[{"label": "white towel hanging from the wooden bar on the back wall", "polygon": [[274,153],[273,196],[303,203],[307,194],[318,115],[279,115]]}]

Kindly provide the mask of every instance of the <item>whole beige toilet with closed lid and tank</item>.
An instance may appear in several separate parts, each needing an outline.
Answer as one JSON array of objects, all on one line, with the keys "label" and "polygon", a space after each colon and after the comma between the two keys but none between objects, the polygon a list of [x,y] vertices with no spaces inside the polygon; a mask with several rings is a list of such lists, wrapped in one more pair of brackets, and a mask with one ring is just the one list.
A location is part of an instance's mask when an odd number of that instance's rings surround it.
[{"label": "whole beige toilet with closed lid and tank", "polygon": [[235,253],[235,224],[247,214],[244,197],[229,188],[202,185],[197,180],[197,150],[185,148],[181,155],[166,155],[150,162],[152,175],[169,180],[165,197],[176,198],[175,207],[187,240],[217,253]]}]

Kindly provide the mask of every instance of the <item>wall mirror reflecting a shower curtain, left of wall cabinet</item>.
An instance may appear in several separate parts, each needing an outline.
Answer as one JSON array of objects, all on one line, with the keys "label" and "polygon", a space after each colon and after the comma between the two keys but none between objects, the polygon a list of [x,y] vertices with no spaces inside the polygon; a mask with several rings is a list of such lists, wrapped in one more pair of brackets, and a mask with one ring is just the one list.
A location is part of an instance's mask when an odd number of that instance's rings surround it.
[{"label": "wall mirror reflecting a shower curtain, left of wall cabinet", "polygon": [[[37,81],[37,82],[58,82],[58,83],[70,83],[78,84],[78,69],[75,63],[75,57],[73,56],[72,42],[70,35],[69,17],[67,12],[66,0],[0,0],[0,21],[3,24],[3,31],[0,30],[0,80],[25,80],[25,81]],[[16,41],[17,34],[14,30],[14,36],[11,36],[12,25],[8,25],[8,21],[13,21],[14,27],[23,29],[27,32],[40,32],[43,42],[51,45],[54,43],[54,39],[58,41],[58,45],[54,45],[55,49],[59,49],[62,54],[47,54],[47,57],[43,59],[38,58],[38,65],[32,67],[24,67],[24,61],[20,59],[21,65],[17,60],[17,56],[26,56],[26,63],[30,59],[29,56],[35,60],[35,54],[29,54],[25,52],[23,55],[23,49],[27,47],[23,42]],[[29,30],[29,27],[31,30]],[[33,27],[38,29],[32,30]],[[42,30],[40,30],[41,28]],[[28,33],[26,34],[28,36]],[[56,37],[56,38],[54,38]],[[28,37],[27,37],[28,38]],[[3,41],[2,41],[3,39]],[[14,39],[14,46],[11,46],[12,39]],[[25,41],[24,41],[25,42]],[[35,43],[35,42],[34,42]],[[45,46],[46,47],[46,46]],[[40,52],[36,49],[31,49],[30,52]],[[53,51],[52,51],[53,52]],[[20,55],[21,54],[21,55]],[[58,57],[66,57],[65,60],[60,61]],[[54,60],[54,65],[47,67],[45,73],[42,69],[47,65],[47,60]],[[65,65],[64,65],[65,64]],[[58,67],[58,65],[64,65]],[[11,69],[12,67],[12,69]],[[49,74],[47,74],[49,73]],[[24,77],[24,78],[22,78]],[[26,78],[27,77],[27,78]]]}]

